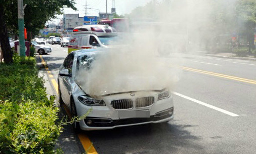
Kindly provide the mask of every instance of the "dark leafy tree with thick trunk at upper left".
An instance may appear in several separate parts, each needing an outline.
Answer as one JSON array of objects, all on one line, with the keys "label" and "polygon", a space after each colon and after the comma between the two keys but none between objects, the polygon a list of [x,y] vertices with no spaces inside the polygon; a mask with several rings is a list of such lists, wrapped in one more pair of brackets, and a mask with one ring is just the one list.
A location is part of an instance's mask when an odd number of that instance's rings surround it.
[{"label": "dark leafy tree with thick trunk at upper left", "polygon": [[[28,40],[44,28],[45,23],[55,15],[62,14],[62,8],[74,7],[74,0],[24,0],[27,4],[24,10],[24,24],[28,31]],[[0,0],[0,41],[3,49],[5,63],[12,63],[12,51],[8,39],[8,31],[17,33],[18,13],[17,0]]]}]

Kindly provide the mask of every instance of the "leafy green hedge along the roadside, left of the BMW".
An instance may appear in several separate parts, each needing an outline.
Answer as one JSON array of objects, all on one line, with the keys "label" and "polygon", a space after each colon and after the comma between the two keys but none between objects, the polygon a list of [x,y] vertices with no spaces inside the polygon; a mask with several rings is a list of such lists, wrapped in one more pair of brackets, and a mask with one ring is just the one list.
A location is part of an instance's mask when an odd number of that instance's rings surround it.
[{"label": "leafy green hedge along the roadside, left of the BMW", "polygon": [[54,97],[47,98],[34,58],[14,61],[0,64],[0,153],[57,153]]}]

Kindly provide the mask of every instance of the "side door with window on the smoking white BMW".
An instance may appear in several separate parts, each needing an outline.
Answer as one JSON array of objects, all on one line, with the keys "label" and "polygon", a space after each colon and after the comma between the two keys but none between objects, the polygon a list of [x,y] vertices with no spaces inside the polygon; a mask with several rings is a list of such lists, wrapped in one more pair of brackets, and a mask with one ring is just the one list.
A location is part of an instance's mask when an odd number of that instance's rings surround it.
[{"label": "side door with window on the smoking white BMW", "polygon": [[[74,61],[74,54],[69,54],[65,59],[63,66],[64,69],[68,69],[69,73],[72,74],[72,66]],[[61,94],[63,101],[68,105],[70,101],[71,89],[72,89],[72,77],[62,76],[62,87]]]}]

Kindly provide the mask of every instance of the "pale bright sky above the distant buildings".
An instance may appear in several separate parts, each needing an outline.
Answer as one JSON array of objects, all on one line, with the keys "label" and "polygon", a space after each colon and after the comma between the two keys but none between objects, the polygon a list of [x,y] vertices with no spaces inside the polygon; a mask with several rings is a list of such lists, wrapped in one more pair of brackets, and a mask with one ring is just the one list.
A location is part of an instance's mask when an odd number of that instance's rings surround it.
[{"label": "pale bright sky above the distant buildings", "polygon": [[[144,6],[148,2],[152,0],[115,0],[115,8],[116,13],[118,15],[131,13],[133,9],[139,6]],[[78,11],[74,11],[69,8],[64,9],[65,14],[72,14],[72,13],[79,13],[79,17],[83,17],[86,15],[86,2],[88,5],[88,15],[90,16],[98,16],[99,10],[100,12],[106,12],[106,0],[76,0],[75,7],[78,9]],[[112,0],[108,0],[108,12],[111,12],[112,8]],[[99,10],[95,10],[99,9]],[[63,15],[59,16],[60,18],[63,17]]]}]

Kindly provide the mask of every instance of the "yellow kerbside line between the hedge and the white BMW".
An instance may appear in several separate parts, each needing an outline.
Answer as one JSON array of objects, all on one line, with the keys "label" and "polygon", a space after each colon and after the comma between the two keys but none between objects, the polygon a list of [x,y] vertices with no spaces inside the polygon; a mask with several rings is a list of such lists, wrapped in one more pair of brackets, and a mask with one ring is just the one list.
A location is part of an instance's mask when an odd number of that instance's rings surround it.
[{"label": "yellow kerbside line between the hedge and the white BMW", "polygon": [[[44,61],[42,56],[40,55],[39,57],[41,59],[42,65],[45,66],[45,69],[49,70],[49,68],[46,66],[46,62]],[[49,74],[50,78],[53,78],[53,75],[51,74],[51,71],[47,71],[47,73]],[[51,82],[54,86],[54,89],[55,89],[56,93],[59,94],[58,83],[56,82],[55,79],[52,79]],[[71,119],[71,114],[70,114],[66,105],[64,105],[64,109],[66,110],[66,113],[67,113],[68,117]],[[80,133],[80,134],[78,134],[78,138],[80,139],[80,142],[81,142],[84,150],[86,150],[87,154],[98,154],[95,147],[93,146],[93,143],[90,141],[90,139],[88,138],[88,136],[86,134],[81,134]]]}]

